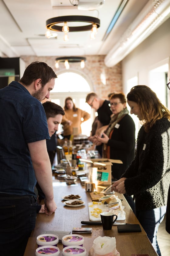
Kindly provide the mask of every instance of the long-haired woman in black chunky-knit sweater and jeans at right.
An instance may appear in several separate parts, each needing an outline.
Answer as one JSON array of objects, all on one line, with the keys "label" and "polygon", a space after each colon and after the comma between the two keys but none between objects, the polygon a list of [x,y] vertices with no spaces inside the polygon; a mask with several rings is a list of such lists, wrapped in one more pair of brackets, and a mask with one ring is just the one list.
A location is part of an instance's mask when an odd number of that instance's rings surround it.
[{"label": "long-haired woman in black chunky-knit sweater and jeans at right", "polygon": [[136,216],[161,256],[156,234],[166,212],[170,183],[170,112],[145,85],[133,87],[127,103],[143,126],[138,133],[136,156],[112,190],[134,195]]}]

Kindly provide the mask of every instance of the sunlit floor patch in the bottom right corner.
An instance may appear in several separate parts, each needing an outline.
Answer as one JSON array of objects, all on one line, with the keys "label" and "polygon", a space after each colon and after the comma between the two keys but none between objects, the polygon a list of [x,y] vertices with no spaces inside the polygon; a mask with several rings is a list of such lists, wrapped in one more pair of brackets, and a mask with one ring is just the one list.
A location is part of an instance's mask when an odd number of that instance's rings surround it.
[{"label": "sunlit floor patch in the bottom right corner", "polygon": [[160,224],[157,233],[157,240],[161,251],[161,256],[170,255],[170,234],[165,230],[165,218]]}]

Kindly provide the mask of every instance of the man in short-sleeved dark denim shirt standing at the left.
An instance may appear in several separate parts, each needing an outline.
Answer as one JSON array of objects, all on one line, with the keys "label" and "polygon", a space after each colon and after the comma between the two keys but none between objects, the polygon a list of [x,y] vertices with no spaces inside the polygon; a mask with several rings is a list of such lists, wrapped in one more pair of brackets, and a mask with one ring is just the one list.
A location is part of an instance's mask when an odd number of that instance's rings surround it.
[{"label": "man in short-sleeved dark denim shirt standing at the left", "polygon": [[46,115],[40,101],[49,98],[56,74],[44,62],[32,62],[19,82],[0,90],[0,248],[23,256],[36,222],[36,180],[45,194],[45,213],[56,210],[46,148]]}]

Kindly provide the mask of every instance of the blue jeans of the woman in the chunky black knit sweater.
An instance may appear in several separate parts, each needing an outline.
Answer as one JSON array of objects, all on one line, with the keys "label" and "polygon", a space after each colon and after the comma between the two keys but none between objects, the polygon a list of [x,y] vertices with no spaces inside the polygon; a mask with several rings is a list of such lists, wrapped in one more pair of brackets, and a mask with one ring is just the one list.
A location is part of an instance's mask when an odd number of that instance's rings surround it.
[{"label": "blue jeans of the woman in the chunky black knit sweater", "polygon": [[159,256],[161,256],[161,252],[157,242],[157,231],[159,224],[164,219],[165,213],[166,206],[162,206],[151,210],[136,211],[136,217],[141,223],[152,246],[154,247],[155,251]]}]

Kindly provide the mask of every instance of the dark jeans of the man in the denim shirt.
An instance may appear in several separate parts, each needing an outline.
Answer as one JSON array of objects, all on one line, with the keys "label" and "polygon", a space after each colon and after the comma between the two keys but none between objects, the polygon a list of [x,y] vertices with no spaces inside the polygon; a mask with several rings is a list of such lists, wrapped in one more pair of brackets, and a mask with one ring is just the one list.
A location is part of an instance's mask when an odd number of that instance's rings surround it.
[{"label": "dark jeans of the man in the denim shirt", "polygon": [[0,254],[23,256],[35,223],[35,197],[0,194]]}]

